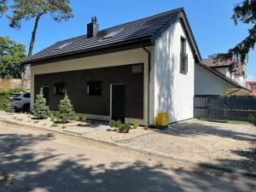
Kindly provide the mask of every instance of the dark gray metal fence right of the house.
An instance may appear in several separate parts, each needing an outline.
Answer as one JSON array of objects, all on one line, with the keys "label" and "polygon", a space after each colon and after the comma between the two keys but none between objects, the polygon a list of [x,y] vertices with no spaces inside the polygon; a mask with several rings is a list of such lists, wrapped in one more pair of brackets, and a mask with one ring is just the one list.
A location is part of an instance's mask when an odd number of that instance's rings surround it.
[{"label": "dark gray metal fence right of the house", "polygon": [[216,121],[256,119],[256,96],[195,96],[195,118]]}]

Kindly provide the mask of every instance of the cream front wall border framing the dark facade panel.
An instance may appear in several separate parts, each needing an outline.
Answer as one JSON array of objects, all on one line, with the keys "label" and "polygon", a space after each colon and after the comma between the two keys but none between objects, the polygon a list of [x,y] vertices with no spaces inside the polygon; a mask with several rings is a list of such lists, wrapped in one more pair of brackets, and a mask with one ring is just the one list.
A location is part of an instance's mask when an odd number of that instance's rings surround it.
[{"label": "cream front wall border framing the dark facade panel", "polygon": [[[152,49],[152,48],[147,48]],[[105,55],[96,55],[90,57],[84,57],[79,59],[52,62],[49,64],[32,66],[31,67],[31,108],[34,106],[34,75],[44,73],[58,73],[75,71],[89,68],[98,67],[111,67],[119,65],[129,65],[133,63],[144,63],[144,98],[143,98],[143,119],[125,119],[129,123],[146,124],[148,122],[148,54],[143,49],[131,49]],[[110,89],[110,88],[109,88]],[[109,116],[97,116],[92,114],[85,114],[88,118],[94,119],[110,119]]]}]

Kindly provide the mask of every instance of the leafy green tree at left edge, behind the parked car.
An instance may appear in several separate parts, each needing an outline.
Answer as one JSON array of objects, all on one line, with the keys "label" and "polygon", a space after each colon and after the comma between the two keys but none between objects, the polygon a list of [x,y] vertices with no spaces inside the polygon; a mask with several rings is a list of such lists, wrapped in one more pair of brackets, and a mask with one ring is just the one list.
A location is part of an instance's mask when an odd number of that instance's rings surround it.
[{"label": "leafy green tree at left edge, behind the parked car", "polygon": [[23,73],[21,61],[26,59],[26,48],[7,37],[0,37],[0,77],[20,79]]}]

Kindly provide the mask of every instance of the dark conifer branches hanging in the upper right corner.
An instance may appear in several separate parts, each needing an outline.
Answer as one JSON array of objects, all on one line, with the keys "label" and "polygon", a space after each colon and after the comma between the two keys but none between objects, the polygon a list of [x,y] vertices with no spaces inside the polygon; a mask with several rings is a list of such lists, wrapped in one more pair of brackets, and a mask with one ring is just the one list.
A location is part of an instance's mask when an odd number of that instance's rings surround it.
[{"label": "dark conifer branches hanging in the upper right corner", "polygon": [[247,55],[251,49],[254,49],[256,44],[256,0],[245,0],[242,3],[235,5],[234,14],[232,16],[235,24],[239,22],[251,25],[248,29],[248,36],[239,44],[229,50],[228,53],[215,55],[216,59],[230,58],[236,55],[242,62],[246,61]]}]

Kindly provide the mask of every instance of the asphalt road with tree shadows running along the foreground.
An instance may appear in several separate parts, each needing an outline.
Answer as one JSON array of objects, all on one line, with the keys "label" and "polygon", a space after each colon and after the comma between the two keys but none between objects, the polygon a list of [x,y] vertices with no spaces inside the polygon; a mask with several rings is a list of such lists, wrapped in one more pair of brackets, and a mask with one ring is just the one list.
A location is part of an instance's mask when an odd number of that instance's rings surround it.
[{"label": "asphalt road with tree shadows running along the foreground", "polygon": [[256,191],[253,177],[0,121],[0,191]]}]

